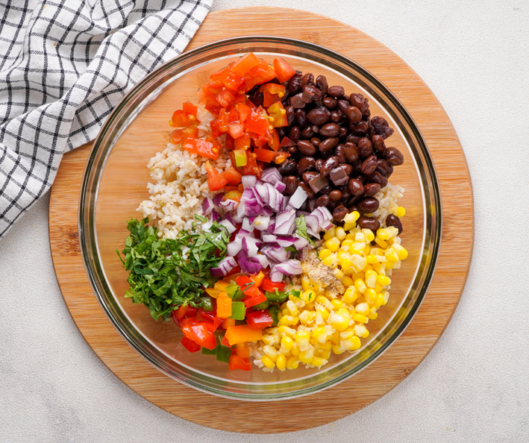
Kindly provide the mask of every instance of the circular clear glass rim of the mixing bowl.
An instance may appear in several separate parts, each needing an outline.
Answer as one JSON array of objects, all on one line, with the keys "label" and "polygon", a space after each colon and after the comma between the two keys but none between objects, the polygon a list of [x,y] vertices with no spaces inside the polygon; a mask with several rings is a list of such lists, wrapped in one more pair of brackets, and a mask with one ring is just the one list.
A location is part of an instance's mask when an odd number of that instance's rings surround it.
[{"label": "circular clear glass rim of the mixing bowl", "polygon": [[[100,292],[100,287],[97,282],[97,279],[95,278],[95,273],[97,270],[93,269],[93,262],[91,261],[91,254],[90,254],[90,243],[94,243],[93,241],[93,234],[95,232],[95,229],[86,229],[84,221],[86,220],[86,217],[90,217],[90,211],[88,211],[89,207],[86,207],[84,205],[84,200],[86,200],[86,195],[89,193],[89,185],[90,185],[90,172],[93,171],[93,167],[95,166],[95,160],[97,157],[98,151],[102,147],[102,138],[104,138],[104,134],[109,129],[109,127],[112,127],[115,120],[120,115],[120,112],[123,110],[123,107],[125,104],[131,99],[132,97],[141,94],[141,91],[143,88],[149,85],[153,81],[153,79],[156,79],[162,72],[170,70],[171,67],[178,65],[180,63],[184,63],[189,58],[192,58],[194,56],[198,56],[200,54],[205,54],[207,51],[211,51],[212,49],[216,49],[219,47],[223,47],[230,44],[237,44],[237,43],[244,43],[244,42],[252,42],[255,45],[267,45],[267,44],[273,44],[273,43],[287,43],[290,45],[293,45],[294,47],[302,47],[304,49],[313,50],[316,52],[321,52],[325,54],[326,56],[332,56],[333,58],[337,59],[341,63],[345,65],[349,65],[352,67],[352,69],[357,70],[360,72],[363,76],[365,76],[366,79],[377,85],[377,88],[381,90],[381,92],[386,95],[387,99],[392,102],[393,106],[397,108],[398,113],[400,113],[400,116],[404,118],[404,121],[410,129],[413,131],[413,135],[416,138],[416,143],[418,144],[418,150],[423,155],[425,164],[428,169],[427,176],[431,179],[431,186],[432,186],[432,204],[434,204],[435,207],[435,214],[432,214],[432,225],[435,226],[435,232],[432,232],[430,234],[433,241],[432,243],[432,250],[430,251],[431,254],[429,256],[429,264],[427,266],[426,272],[423,275],[423,285],[420,287],[420,291],[418,291],[418,295],[416,297],[415,302],[409,309],[408,314],[402,319],[402,322],[398,327],[396,328],[395,332],[393,332],[390,337],[382,344],[379,348],[377,348],[367,359],[360,362],[356,367],[350,369],[349,371],[346,371],[345,373],[342,373],[335,378],[331,378],[331,380],[328,380],[326,382],[322,382],[319,385],[316,385],[315,387],[307,387],[303,389],[299,389],[297,391],[289,392],[287,394],[238,394],[234,392],[230,392],[229,394],[226,394],[226,391],[216,389],[214,387],[209,387],[205,385],[201,385],[197,382],[194,382],[192,380],[188,380],[187,378],[183,378],[182,376],[178,376],[175,373],[171,373],[170,371],[166,370],[157,360],[153,357],[151,357],[148,353],[145,353],[143,351],[143,348],[141,346],[137,346],[134,339],[131,338],[129,333],[125,331],[123,328],[121,328],[120,324],[113,318],[113,315],[111,314],[111,310],[109,307],[104,303],[102,293]],[[244,54],[246,51],[240,51],[240,54]],[[274,52],[273,48],[269,52]],[[206,62],[209,63],[209,62]],[[194,66],[197,67],[198,65]],[[165,84],[165,83],[164,83]],[[152,92],[150,92],[152,94]],[[390,113],[388,109],[385,109],[386,112]],[[119,136],[122,134],[122,131],[119,131],[119,133],[116,135],[116,137],[113,139],[117,140]],[[111,153],[112,148],[109,149],[109,152],[106,153],[106,156],[104,158],[104,161],[102,162],[102,168],[101,171],[104,169],[104,165],[106,163],[106,159],[108,159],[109,154]],[[414,159],[415,161],[415,159]],[[422,168],[418,168],[418,172],[424,173]],[[422,175],[422,174],[421,174]],[[423,180],[420,181],[421,187],[423,187]],[[94,200],[94,208],[96,206],[97,202],[97,191],[99,189],[100,185],[100,179],[97,180],[97,186],[95,191],[95,200]],[[423,204],[425,204],[425,195],[423,190]],[[427,215],[425,214],[425,220],[427,218]],[[192,49],[191,51],[186,51],[180,56],[177,56],[175,58],[172,58],[169,61],[166,61],[165,63],[159,65],[155,70],[152,70],[149,74],[147,74],[141,81],[136,83],[135,86],[133,86],[120,100],[120,102],[113,108],[112,112],[109,114],[108,118],[106,118],[106,121],[102,125],[99,133],[97,134],[97,137],[95,138],[93,149],[90,152],[90,155],[88,157],[88,161],[86,162],[86,166],[84,169],[83,179],[81,183],[81,192],[79,193],[79,212],[78,212],[78,223],[79,223],[79,243],[81,245],[81,255],[83,258],[83,264],[86,271],[86,274],[88,276],[88,280],[90,282],[90,286],[93,289],[93,292],[95,293],[97,303],[100,304],[100,306],[103,309],[104,314],[107,316],[111,324],[114,328],[118,331],[121,337],[125,340],[129,346],[131,346],[136,353],[138,353],[141,357],[143,357],[144,360],[148,361],[152,366],[157,368],[162,373],[166,374],[166,376],[169,376],[175,380],[178,380],[179,382],[182,382],[184,385],[187,385],[189,387],[193,387],[194,389],[198,389],[201,392],[206,392],[208,394],[214,394],[216,396],[221,396],[223,398],[235,398],[243,401],[271,401],[271,400],[280,400],[280,399],[288,399],[288,398],[297,398],[300,396],[305,396],[308,394],[313,394],[314,392],[319,392],[322,389],[326,389],[328,387],[331,387],[333,385],[338,384],[339,382],[342,382],[344,380],[347,380],[347,378],[351,378],[356,373],[359,373],[363,371],[366,367],[368,367],[372,362],[377,360],[384,352],[387,351],[387,349],[402,335],[404,330],[406,330],[409,323],[413,320],[415,317],[420,305],[423,303],[423,299],[425,297],[425,294],[427,293],[429,289],[429,285],[432,283],[432,277],[434,275],[437,261],[439,258],[439,251],[441,248],[441,234],[443,231],[443,218],[442,218],[442,200],[441,200],[441,190],[439,188],[439,179],[436,174],[434,161],[432,159],[431,154],[429,153],[427,143],[425,141],[425,138],[420,132],[420,129],[418,128],[418,125],[411,117],[411,114],[407,109],[404,107],[404,105],[400,102],[400,100],[393,94],[393,92],[382,82],[380,81],[377,76],[374,76],[369,70],[367,70],[362,65],[358,64],[351,58],[348,58],[346,56],[343,56],[337,51],[333,51],[331,49],[328,49],[326,47],[323,47],[321,45],[316,45],[312,42],[306,42],[303,40],[297,40],[294,38],[279,38],[274,37],[270,35],[248,35],[248,36],[242,36],[242,37],[235,37],[235,38],[227,38],[223,40],[217,40],[215,42],[207,43],[206,45],[202,45],[200,47],[196,47],[195,49]],[[87,226],[90,226],[90,223],[87,224]],[[93,227],[95,228],[96,223],[94,219]],[[425,227],[424,236],[427,234],[427,228]],[[435,234],[435,235],[434,235]],[[97,255],[99,255],[99,248],[97,246],[97,233],[95,233],[95,244],[97,249]],[[423,247],[425,245],[425,240],[423,240]],[[96,255],[96,256],[97,256]],[[421,250],[420,252],[421,258],[424,259],[423,255],[424,252]],[[418,263],[418,268],[420,266],[422,260]],[[417,269],[418,269],[417,268]],[[416,271],[415,276],[413,277],[413,281],[415,281],[417,277],[418,271]],[[104,271],[103,271],[104,274]],[[104,275],[104,280],[106,280],[106,275]],[[413,283],[412,281],[412,283]],[[411,286],[409,287],[406,296],[403,300],[406,299],[406,297],[409,294],[409,290],[411,289]],[[393,315],[395,316],[395,314]],[[386,325],[384,328],[387,328]],[[384,328],[381,329],[379,334],[384,331]],[[181,364],[181,363],[178,363]],[[194,371],[194,369],[191,369],[191,371]],[[206,378],[214,378],[210,376],[206,376]],[[278,384],[281,382],[278,382]]]}]

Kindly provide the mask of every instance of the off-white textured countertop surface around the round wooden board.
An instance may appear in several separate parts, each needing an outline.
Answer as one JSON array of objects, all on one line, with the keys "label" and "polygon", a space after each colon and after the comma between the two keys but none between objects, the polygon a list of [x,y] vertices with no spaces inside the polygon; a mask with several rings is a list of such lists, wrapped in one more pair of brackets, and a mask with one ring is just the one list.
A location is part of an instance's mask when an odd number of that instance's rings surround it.
[{"label": "off-white textured countertop surface around the round wooden board", "polygon": [[455,316],[411,376],[352,416],[290,435],[203,428],[134,394],[81,337],[56,282],[45,197],[0,242],[0,442],[528,441],[529,3],[217,0],[214,10],[239,6],[340,19],[395,51],[439,98],[475,196]]}]

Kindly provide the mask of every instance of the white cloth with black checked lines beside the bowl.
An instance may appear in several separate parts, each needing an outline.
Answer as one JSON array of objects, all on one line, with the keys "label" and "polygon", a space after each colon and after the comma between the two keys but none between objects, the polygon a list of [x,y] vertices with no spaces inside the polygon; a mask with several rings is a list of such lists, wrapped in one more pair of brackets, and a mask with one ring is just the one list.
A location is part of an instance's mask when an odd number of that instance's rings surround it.
[{"label": "white cloth with black checked lines beside the bowl", "polygon": [[213,0],[0,0],[0,238]]}]

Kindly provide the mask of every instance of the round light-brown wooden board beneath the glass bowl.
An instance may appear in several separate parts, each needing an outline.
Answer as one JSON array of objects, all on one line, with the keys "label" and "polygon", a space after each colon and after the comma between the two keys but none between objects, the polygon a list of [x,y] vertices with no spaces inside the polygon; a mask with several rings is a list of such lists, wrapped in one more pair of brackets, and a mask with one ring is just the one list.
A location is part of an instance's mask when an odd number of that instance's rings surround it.
[{"label": "round light-brown wooden board beneath the glass bowl", "polygon": [[[106,318],[90,288],[79,250],[77,211],[92,144],[63,158],[52,187],[49,237],[57,279],[77,327],[127,386],[171,414],[203,426],[281,433],[326,424],[364,408],[406,378],[432,349],[466,282],[473,248],[473,198],[466,160],[448,116],[417,74],[384,45],[346,24],[312,13],[242,8],[208,15],[187,49],[242,35],[297,38],[352,58],[397,95],[422,131],[441,186],[441,252],[423,305],[393,346],[353,378],[298,399],[249,403],[198,392],[168,378],[133,351]],[[267,420],[255,420],[256,416]]]}]

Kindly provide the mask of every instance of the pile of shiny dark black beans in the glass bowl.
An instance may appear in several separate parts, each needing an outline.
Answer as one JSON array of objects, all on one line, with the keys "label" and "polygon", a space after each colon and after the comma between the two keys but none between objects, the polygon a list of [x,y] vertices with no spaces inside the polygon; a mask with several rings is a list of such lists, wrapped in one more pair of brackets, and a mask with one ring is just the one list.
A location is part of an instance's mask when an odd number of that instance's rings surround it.
[{"label": "pile of shiny dark black beans in the glass bowl", "polygon": [[[358,225],[378,229],[379,222],[365,214],[378,209],[374,195],[388,184],[393,166],[404,162],[402,153],[384,141],[394,129],[385,118],[370,116],[366,97],[329,86],[323,75],[315,79],[310,72],[298,71],[283,86],[288,126],[277,131],[281,150],[290,154],[278,166],[284,194],[292,195],[301,186],[308,195],[301,210],[325,206],[336,223],[358,211]],[[250,91],[250,99],[262,105],[258,87]],[[386,225],[402,232],[397,216],[388,216]]]}]

